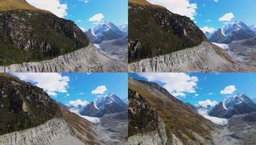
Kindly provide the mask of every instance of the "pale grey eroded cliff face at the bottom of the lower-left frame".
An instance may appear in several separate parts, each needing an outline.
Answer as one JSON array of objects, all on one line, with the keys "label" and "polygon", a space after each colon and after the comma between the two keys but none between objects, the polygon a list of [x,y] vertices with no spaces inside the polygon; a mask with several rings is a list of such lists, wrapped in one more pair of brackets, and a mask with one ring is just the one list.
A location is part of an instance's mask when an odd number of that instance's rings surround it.
[{"label": "pale grey eroded cliff face at the bottom of the lower-left frame", "polygon": [[72,136],[73,132],[63,118],[55,118],[34,128],[0,135],[0,145],[84,145]]}]

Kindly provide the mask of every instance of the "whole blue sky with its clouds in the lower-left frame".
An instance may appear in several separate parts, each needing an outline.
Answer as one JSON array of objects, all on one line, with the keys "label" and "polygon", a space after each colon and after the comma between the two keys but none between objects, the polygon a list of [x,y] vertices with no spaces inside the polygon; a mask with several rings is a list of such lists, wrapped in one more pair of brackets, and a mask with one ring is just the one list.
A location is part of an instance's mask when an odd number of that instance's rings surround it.
[{"label": "whole blue sky with its clouds in the lower-left frame", "polygon": [[[11,73],[25,82],[31,82],[58,102],[90,103],[96,97],[114,93],[127,98],[128,73]],[[96,89],[98,87],[98,89]],[[94,93],[92,92],[94,90]]]}]

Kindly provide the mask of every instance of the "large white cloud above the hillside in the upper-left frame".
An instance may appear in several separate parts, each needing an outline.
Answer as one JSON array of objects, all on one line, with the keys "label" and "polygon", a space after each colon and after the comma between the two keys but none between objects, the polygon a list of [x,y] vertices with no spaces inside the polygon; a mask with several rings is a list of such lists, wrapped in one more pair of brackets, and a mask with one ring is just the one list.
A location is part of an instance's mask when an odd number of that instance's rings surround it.
[{"label": "large white cloud above the hillside in the upper-left frame", "polygon": [[42,10],[51,11],[60,18],[67,16],[67,4],[61,4],[60,0],[26,0],[29,4]]}]

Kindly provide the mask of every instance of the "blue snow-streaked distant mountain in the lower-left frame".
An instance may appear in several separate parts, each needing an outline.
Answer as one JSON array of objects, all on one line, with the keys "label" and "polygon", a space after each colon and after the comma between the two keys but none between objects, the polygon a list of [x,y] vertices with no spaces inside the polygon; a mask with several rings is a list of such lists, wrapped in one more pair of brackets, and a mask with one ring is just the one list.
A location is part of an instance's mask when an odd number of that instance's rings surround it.
[{"label": "blue snow-streaked distant mountain in the lower-left frame", "polygon": [[127,111],[125,104],[118,96],[113,93],[101,96],[90,104],[86,105],[80,114],[91,117],[102,117],[105,114],[113,114]]}]

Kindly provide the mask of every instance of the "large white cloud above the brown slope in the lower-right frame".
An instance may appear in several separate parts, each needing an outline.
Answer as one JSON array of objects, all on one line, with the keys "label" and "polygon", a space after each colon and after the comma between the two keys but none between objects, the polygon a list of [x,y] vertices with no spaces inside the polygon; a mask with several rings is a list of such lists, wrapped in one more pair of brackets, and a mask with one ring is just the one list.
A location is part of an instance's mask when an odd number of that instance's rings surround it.
[{"label": "large white cloud above the brown slope in the lower-right frame", "polygon": [[198,77],[187,73],[137,73],[149,82],[162,83],[163,87],[174,96],[185,97],[186,93],[196,93]]}]

